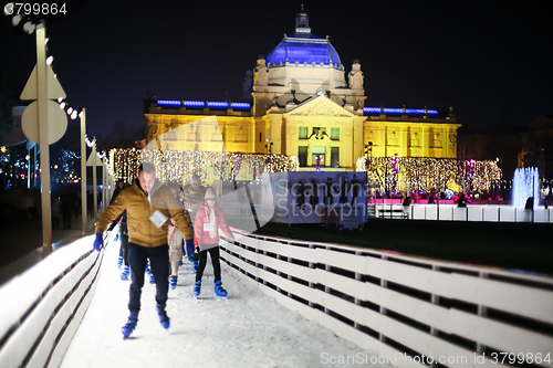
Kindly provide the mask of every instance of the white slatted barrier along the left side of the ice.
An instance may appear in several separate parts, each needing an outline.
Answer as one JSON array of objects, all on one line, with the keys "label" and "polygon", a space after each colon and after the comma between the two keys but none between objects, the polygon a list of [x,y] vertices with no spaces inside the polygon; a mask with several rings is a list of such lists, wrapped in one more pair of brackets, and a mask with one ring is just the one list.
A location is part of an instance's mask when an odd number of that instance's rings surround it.
[{"label": "white slatted barrier along the left side of the ice", "polygon": [[[94,295],[94,235],[58,249],[0,287],[0,367],[58,367]],[[105,240],[107,244],[107,239]]]}]

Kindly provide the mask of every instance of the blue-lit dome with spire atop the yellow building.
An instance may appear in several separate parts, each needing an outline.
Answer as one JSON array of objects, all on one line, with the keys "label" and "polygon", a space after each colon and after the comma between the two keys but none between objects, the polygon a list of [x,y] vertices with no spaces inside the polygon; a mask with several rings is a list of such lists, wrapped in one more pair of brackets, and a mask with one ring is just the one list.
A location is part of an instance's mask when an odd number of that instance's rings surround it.
[{"label": "blue-lit dome with spire atop the yellow building", "polygon": [[268,67],[296,65],[344,70],[328,38],[311,34],[309,14],[303,12],[303,8],[295,15],[295,34],[284,34],[284,39],[267,56],[265,63]]}]

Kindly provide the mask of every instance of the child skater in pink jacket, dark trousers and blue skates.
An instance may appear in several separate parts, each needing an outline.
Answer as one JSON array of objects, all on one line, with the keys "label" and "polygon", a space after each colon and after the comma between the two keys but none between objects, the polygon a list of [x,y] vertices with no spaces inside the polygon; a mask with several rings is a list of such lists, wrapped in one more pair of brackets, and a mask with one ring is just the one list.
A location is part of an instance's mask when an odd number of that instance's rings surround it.
[{"label": "child skater in pink jacket, dark trousers and blue skates", "polygon": [[199,264],[196,272],[196,284],[194,286],[194,295],[200,295],[201,276],[207,263],[207,254],[211,256],[215,273],[215,293],[217,296],[227,296],[227,291],[221,284],[221,264],[219,261],[219,228],[229,238],[234,241],[232,232],[230,232],[227,221],[222,215],[222,211],[216,207],[217,196],[212,188],[206,191],[205,202],[198,209],[196,220],[194,222],[194,243],[200,248],[198,255]]}]

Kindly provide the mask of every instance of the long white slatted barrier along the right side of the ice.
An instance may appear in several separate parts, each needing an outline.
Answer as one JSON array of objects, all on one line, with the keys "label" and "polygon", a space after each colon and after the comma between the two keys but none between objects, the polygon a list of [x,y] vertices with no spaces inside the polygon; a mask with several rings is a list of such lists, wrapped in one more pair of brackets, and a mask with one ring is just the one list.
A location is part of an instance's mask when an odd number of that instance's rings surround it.
[{"label": "long white slatted barrier along the right side of the ice", "polygon": [[236,238],[221,242],[228,265],[288,308],[376,350],[378,362],[407,367],[432,357],[432,366],[497,367],[524,354],[523,362],[553,367],[551,277],[354,246]]}]

